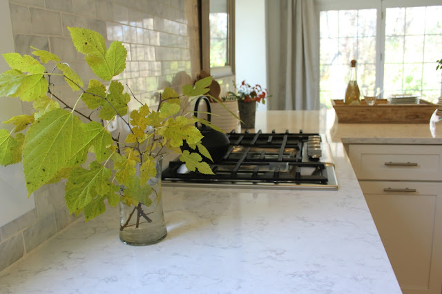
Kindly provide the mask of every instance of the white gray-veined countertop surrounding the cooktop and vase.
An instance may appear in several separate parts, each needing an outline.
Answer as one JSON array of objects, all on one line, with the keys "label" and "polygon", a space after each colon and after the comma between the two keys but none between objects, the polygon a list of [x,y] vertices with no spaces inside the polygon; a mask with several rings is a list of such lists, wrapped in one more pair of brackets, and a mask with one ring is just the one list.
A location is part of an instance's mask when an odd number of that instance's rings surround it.
[{"label": "white gray-veined countertop surrounding the cooktop and vase", "polygon": [[258,112],[256,128],[325,134],[339,189],[167,186],[162,242],[122,244],[108,208],[2,271],[0,293],[401,293],[342,141],[442,144],[428,126],[337,124],[320,110]]}]

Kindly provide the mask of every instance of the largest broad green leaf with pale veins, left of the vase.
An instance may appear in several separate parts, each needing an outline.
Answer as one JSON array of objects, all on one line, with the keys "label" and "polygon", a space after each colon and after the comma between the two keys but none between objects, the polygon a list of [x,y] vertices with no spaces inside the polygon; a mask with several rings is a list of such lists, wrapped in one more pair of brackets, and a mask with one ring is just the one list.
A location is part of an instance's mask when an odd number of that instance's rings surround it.
[{"label": "largest broad green leaf with pale veins, left of the vase", "polygon": [[[29,195],[62,168],[82,163],[76,158],[84,145],[81,124],[71,112],[55,109],[29,127],[23,148],[23,172]],[[81,154],[81,159],[86,159],[86,155]]]}]

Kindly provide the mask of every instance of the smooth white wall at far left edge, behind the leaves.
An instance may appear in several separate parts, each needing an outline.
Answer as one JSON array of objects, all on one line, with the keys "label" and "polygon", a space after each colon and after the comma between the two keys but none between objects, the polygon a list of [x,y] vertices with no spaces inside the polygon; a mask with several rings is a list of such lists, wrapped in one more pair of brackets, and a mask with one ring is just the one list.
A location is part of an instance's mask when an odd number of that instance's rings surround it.
[{"label": "smooth white wall at far left edge, behind the leaves", "polygon": [[[8,1],[0,1],[0,28],[0,54],[14,52]],[[0,57],[0,72],[9,69],[6,61]],[[22,114],[19,98],[0,97],[0,123]],[[0,128],[12,130],[10,125],[1,124]],[[33,197],[28,199],[21,163],[0,167],[0,203],[0,227],[35,208]]]}]

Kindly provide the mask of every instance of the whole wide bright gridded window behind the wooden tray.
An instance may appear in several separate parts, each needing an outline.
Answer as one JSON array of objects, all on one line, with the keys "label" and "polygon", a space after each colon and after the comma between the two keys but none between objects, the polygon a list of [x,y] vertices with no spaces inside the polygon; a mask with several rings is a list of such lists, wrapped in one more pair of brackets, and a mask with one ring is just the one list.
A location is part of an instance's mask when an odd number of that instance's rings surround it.
[{"label": "whole wide bright gridded window behind the wooden tray", "polygon": [[376,84],[384,90],[384,98],[409,93],[436,103],[441,94],[436,60],[442,58],[442,6],[419,7],[423,1],[400,2],[408,7],[394,7],[385,0],[361,9],[336,10],[340,8],[336,4],[333,9],[320,8],[323,106],[330,107],[331,99],[343,99],[352,59],[358,61],[360,88]]}]

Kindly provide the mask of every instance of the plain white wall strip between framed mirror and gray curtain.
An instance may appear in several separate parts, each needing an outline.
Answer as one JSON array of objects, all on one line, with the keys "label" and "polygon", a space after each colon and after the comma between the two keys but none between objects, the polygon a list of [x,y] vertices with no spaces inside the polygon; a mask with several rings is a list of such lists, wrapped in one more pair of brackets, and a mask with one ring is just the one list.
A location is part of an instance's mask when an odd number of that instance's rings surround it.
[{"label": "plain white wall strip between framed mirror and gray curtain", "polygon": [[236,0],[235,14],[236,82],[267,88],[265,0]]}]

